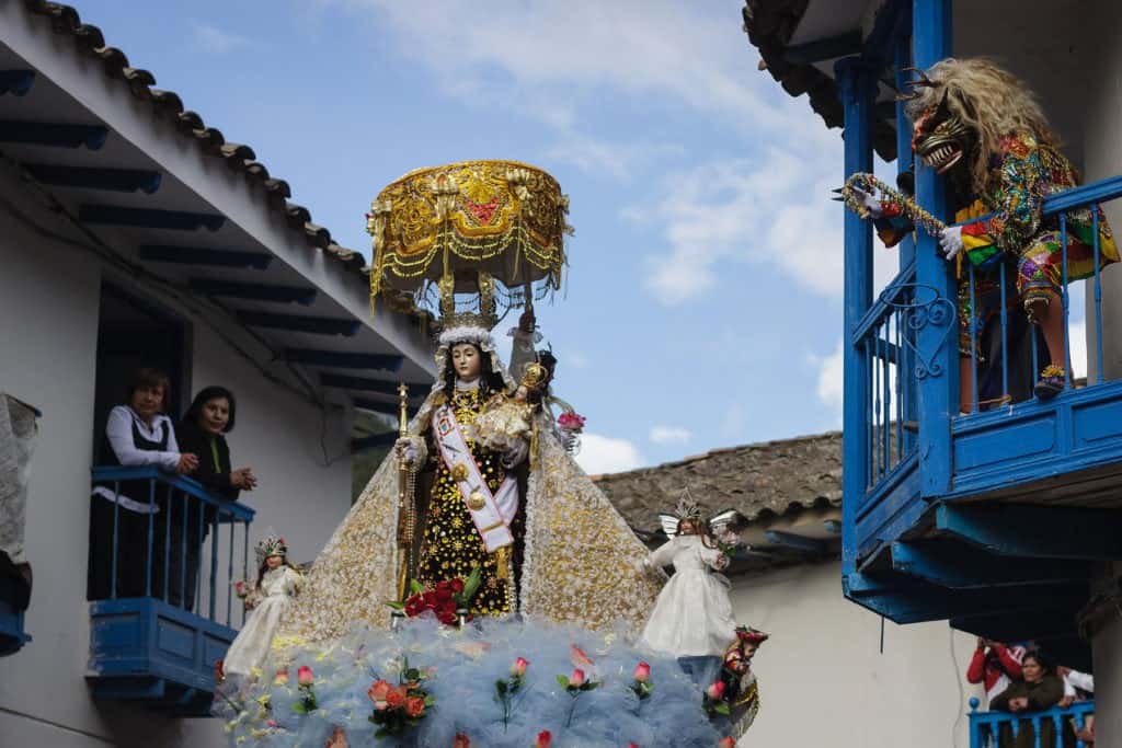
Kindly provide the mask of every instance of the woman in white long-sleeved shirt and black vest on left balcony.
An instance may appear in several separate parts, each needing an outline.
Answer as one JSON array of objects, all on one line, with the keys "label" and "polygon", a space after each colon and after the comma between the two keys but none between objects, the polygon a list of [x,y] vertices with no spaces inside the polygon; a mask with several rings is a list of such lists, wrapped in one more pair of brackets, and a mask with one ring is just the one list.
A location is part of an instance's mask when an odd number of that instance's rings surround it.
[{"label": "woman in white long-sleeved shirt and black vest on left balcony", "polygon": [[[155,465],[169,472],[190,473],[199,458],[182,452],[172,419],[164,415],[168,378],[158,369],[139,369],[129,385],[128,405],[109,412],[102,464]],[[117,492],[114,493],[114,488]],[[157,496],[160,492],[157,491]],[[158,496],[163,499],[163,497]],[[151,502],[148,481],[103,483],[93,489],[90,504],[90,562],[86,598],[104,600],[113,584],[113,515],[117,515],[117,595],[145,597],[147,590],[148,530],[151,523],[151,597],[163,597],[164,523],[166,502]],[[150,517],[157,515],[157,517]]]}]

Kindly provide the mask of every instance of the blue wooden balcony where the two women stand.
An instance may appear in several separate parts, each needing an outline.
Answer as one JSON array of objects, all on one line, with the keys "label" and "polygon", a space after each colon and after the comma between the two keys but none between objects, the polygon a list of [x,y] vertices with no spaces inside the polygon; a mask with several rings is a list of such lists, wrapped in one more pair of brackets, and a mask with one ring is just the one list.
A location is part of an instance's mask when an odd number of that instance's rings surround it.
[{"label": "blue wooden balcony where the two women stand", "polygon": [[[132,556],[121,547],[128,537],[122,519],[128,509],[119,502],[113,502],[110,536],[94,538],[95,545],[109,544],[111,554],[91,555],[110,564],[103,574],[109,580],[105,599],[90,602],[86,681],[93,696],[205,715],[214,691],[214,663],[226,656],[237,635],[233,625],[243,619],[239,613],[236,620],[232,612],[240,608],[232,581],[236,574],[251,573],[248,533],[254,510],[219,500],[197,482],[156,468],[94,468],[93,481],[159,509],[144,515],[147,532],[139,541],[146,547],[134,548]],[[119,560],[137,553],[146,560],[142,573],[121,581]]]}]

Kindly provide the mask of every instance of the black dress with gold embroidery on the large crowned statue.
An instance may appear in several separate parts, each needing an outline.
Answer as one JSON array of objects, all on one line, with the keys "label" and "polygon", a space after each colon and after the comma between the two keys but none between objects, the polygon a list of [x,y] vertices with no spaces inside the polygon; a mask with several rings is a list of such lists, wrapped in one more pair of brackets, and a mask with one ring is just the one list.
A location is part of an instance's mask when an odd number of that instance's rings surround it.
[{"label": "black dress with gold embroidery on the large crowned statue", "polygon": [[[491,491],[506,478],[500,455],[477,444],[471,437],[471,425],[487,404],[487,396],[478,388],[457,389],[450,401],[456,419],[465,433],[468,449],[475,458],[479,472]],[[472,600],[472,611],[485,616],[502,616],[514,608],[513,557],[504,553],[487,553],[479,533],[471,521],[471,514],[463,504],[463,496],[452,478],[451,470],[441,459],[440,451],[429,449],[430,465],[435,468],[432,496],[429,501],[427,520],[417,561],[421,583],[432,587],[436,582],[452,578],[465,579],[479,566],[482,583]],[[512,523],[515,544],[522,536],[524,523],[521,512]],[[499,569],[499,566],[505,566]]]}]

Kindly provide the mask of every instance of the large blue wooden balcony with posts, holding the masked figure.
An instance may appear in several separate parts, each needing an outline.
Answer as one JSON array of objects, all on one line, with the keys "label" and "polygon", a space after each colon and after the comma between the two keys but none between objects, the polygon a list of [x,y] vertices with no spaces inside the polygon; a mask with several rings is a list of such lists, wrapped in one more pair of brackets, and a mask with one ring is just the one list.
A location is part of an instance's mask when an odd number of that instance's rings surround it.
[{"label": "large blue wooden balcony with posts, holding the masked figure", "polygon": [[[895,27],[898,37],[881,54],[866,49],[835,66],[845,108],[845,177],[873,170],[877,86],[892,81],[895,70],[899,89],[901,68],[923,68],[950,53],[950,4],[916,0],[908,10],[908,22]],[[911,124],[902,104],[895,126],[898,167],[913,172],[917,202],[946,216],[941,177],[912,164]],[[1045,216],[1058,222],[1063,237],[1065,280],[1067,215],[1120,197],[1122,176],[1045,201]],[[964,350],[972,358],[962,371],[973,395],[960,413],[954,265],[923,232],[899,251],[899,274],[874,289],[872,227],[847,212],[845,593],[898,622],[949,619],[956,628],[990,638],[1032,638],[1066,663],[1087,665],[1089,653],[1076,629],[1091,566],[1122,557],[1122,499],[1115,488],[1122,480],[1122,381],[1106,379],[1101,342],[1104,325],[1122,320],[1104,321],[1096,270],[1084,281],[1091,376],[1075,381],[1073,288],[1066,287],[1067,377],[1059,395],[1041,400],[1031,387],[1019,389],[1014,373],[1020,366],[1034,379],[1048,361],[1047,349],[1003,295],[985,369],[978,360],[977,320],[971,317]],[[977,278],[966,265],[966,281],[974,288]],[[1020,360],[1013,361],[1019,343]]]}]

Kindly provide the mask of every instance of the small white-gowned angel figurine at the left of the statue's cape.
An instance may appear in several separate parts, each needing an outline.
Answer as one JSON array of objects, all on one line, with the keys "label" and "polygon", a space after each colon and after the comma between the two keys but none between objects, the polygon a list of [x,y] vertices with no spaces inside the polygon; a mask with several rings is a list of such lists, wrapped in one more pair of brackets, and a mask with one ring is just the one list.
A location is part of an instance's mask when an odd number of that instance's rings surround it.
[{"label": "small white-gowned angel figurine at the left of the statue's cape", "polygon": [[252,612],[226,653],[226,674],[249,675],[269,654],[277,624],[303,587],[304,578],[288,563],[288,547],[272,532],[254,547],[257,584],[246,598]]}]

